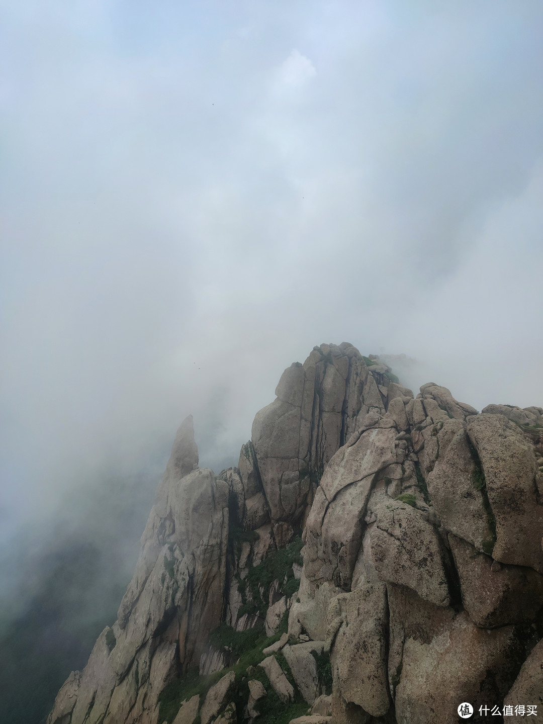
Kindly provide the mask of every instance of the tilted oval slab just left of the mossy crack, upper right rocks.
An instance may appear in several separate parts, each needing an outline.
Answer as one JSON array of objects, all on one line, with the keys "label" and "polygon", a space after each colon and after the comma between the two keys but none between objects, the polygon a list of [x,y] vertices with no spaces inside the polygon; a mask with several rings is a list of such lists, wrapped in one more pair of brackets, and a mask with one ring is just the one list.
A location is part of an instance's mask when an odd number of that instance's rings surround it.
[{"label": "tilted oval slab just left of the mossy crack, upper right rocks", "polygon": [[439,458],[426,477],[432,505],[447,531],[482,552],[492,545],[493,534],[483,493],[477,489],[472,448],[464,429],[454,434],[448,446],[445,433],[444,426],[437,434]]}]

